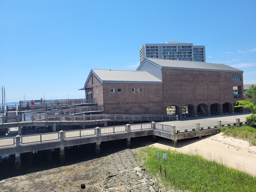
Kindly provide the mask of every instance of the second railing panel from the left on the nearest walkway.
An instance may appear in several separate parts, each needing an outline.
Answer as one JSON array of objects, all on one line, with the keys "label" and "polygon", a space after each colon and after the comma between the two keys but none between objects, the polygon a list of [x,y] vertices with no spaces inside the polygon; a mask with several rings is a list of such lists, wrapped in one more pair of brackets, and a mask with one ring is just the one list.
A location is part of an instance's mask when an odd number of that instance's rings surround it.
[{"label": "second railing panel from the left on the nearest walkway", "polygon": [[21,136],[21,144],[59,140],[59,132]]}]

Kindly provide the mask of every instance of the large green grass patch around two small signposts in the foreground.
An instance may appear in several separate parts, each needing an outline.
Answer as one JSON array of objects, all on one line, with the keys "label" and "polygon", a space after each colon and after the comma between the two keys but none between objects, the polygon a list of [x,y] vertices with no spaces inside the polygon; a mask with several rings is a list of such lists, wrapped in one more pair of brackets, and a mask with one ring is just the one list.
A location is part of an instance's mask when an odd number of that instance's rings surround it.
[{"label": "large green grass patch around two small signposts in the foreground", "polygon": [[[158,150],[161,152],[161,174]],[[167,153],[166,177],[162,153]],[[229,168],[215,161],[206,160],[199,155],[189,155],[175,150],[162,150],[144,147],[137,154],[143,167],[158,178],[167,190],[169,187],[188,191],[255,191],[256,177]]]}]

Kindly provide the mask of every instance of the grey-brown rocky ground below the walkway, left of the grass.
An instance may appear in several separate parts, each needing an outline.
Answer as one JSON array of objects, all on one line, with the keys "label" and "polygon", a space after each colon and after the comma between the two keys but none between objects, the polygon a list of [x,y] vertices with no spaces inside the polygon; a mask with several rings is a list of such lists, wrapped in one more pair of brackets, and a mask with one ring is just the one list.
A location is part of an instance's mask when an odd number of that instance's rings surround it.
[{"label": "grey-brown rocky ground below the walkway, left of the grass", "polygon": [[[130,149],[99,158],[7,178],[0,191],[153,192],[158,187]],[[80,184],[86,185],[81,189]]]}]

